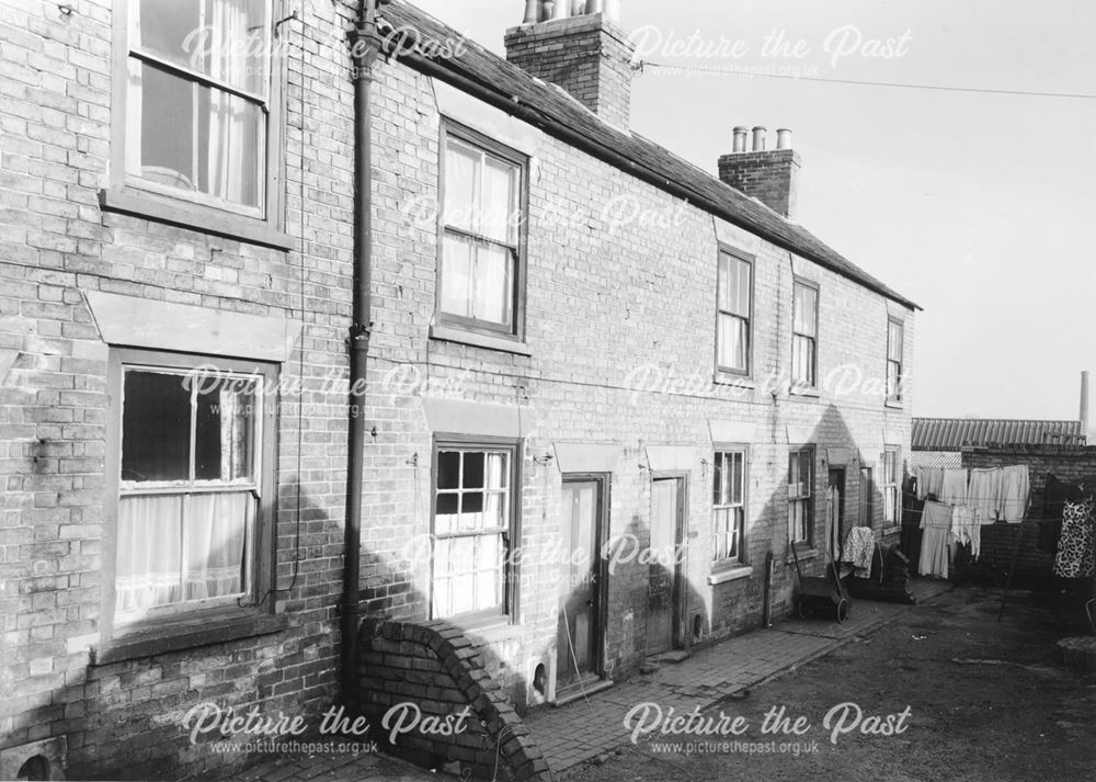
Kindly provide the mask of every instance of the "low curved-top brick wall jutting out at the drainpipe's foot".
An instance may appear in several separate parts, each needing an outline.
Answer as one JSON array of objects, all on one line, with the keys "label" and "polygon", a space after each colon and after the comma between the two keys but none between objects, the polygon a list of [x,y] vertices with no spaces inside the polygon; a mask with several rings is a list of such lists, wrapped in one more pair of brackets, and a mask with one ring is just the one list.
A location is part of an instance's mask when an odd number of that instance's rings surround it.
[{"label": "low curved-top brick wall jutting out at the drainpipe's foot", "polygon": [[[387,751],[426,768],[457,762],[477,779],[552,780],[528,728],[460,630],[370,617],[362,623],[358,648],[361,712]],[[452,717],[468,706],[471,714],[457,735],[415,732],[391,743],[383,719],[400,703],[415,704],[423,717]]]}]

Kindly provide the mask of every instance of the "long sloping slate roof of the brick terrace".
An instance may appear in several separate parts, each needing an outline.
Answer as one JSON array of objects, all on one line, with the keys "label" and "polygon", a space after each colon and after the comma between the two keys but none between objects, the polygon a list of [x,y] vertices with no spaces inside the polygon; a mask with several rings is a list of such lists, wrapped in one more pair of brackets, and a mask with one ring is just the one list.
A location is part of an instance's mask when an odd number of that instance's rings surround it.
[{"label": "long sloping slate roof of the brick terrace", "polygon": [[[515,4],[514,12],[517,11]],[[690,193],[689,201],[696,206],[905,307],[921,309],[848,261],[802,226],[724,184],[718,178],[654,141],[606,124],[562,89],[535,79],[499,55],[463,38],[457,31],[421,9],[402,0],[393,0],[381,8],[379,16],[381,23],[387,22],[392,27],[400,29],[407,25],[413,29],[423,36],[423,41],[465,41],[466,45],[460,56],[431,59],[446,71],[470,79],[507,102],[533,110],[544,117],[546,124],[562,124],[590,145],[623,155],[630,163],[631,170],[624,169],[627,173],[641,175],[642,172],[648,178],[653,177],[666,184],[676,183]],[[384,27],[381,32],[385,32]],[[551,134],[550,128],[546,127],[545,131]]]}]

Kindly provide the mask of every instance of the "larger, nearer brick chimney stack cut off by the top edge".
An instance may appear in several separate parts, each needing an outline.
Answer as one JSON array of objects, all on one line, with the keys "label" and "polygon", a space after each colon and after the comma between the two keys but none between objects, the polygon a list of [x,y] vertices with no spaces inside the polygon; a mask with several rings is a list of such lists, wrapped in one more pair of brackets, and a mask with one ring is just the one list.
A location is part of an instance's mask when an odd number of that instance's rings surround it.
[{"label": "larger, nearer brick chimney stack cut off by the top edge", "polygon": [[506,59],[628,129],[636,46],[619,23],[620,0],[524,0],[524,8],[525,22],[506,31]]}]

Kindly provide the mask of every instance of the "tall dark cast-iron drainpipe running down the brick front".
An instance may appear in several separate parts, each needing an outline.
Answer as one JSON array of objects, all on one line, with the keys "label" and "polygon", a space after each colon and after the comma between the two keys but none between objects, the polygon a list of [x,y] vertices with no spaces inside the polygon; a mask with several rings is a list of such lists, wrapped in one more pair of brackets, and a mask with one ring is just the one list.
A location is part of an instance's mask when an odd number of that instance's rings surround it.
[{"label": "tall dark cast-iron drainpipe running down the brick front", "polygon": [[346,457],[345,567],[342,600],[342,701],[353,706],[357,691],[357,631],[362,573],[362,464],[365,450],[365,383],[373,330],[373,123],[369,105],[377,57],[377,5],[362,0],[352,41],[354,78],[354,305],[350,327],[350,434]]}]

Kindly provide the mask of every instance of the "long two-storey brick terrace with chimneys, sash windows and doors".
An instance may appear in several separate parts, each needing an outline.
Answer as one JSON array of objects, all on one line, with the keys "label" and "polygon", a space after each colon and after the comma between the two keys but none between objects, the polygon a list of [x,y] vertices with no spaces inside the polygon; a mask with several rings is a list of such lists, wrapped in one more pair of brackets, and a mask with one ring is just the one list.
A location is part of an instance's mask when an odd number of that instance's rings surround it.
[{"label": "long two-storey brick terrace with chimneys, sash windows and doors", "polygon": [[614,3],[507,59],[386,3],[375,63],[350,0],[0,4],[4,773],[238,762],[187,710],[316,715],[340,644],[372,698],[354,609],[561,701],[757,625],[769,554],[785,611],[827,486],[897,534],[915,305],[787,134],[632,133]]}]

